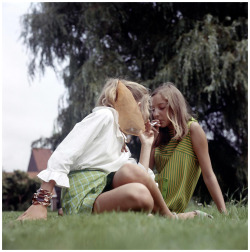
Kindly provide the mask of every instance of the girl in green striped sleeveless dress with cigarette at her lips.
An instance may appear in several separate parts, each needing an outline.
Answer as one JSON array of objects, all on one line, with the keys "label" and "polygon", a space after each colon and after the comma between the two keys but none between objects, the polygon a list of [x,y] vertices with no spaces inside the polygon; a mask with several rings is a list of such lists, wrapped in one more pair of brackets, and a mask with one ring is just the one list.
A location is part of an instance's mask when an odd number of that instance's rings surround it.
[{"label": "girl in green striped sleeveless dress with cigarette at her lips", "polygon": [[213,172],[206,135],[192,118],[181,92],[172,84],[158,87],[152,94],[155,141],[150,168],[156,168],[156,180],[171,211],[186,209],[200,174],[220,212],[225,202]]}]

